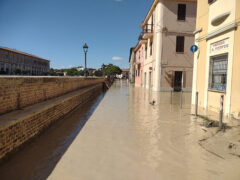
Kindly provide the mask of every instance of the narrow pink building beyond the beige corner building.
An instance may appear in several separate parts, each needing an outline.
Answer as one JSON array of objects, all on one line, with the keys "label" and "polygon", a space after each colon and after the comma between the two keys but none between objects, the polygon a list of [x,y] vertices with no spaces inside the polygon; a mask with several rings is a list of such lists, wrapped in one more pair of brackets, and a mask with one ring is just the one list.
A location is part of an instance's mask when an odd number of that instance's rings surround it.
[{"label": "narrow pink building beyond the beige corner building", "polygon": [[139,41],[134,49],[135,51],[135,86],[143,85],[143,63],[145,56],[145,44],[142,40]]}]

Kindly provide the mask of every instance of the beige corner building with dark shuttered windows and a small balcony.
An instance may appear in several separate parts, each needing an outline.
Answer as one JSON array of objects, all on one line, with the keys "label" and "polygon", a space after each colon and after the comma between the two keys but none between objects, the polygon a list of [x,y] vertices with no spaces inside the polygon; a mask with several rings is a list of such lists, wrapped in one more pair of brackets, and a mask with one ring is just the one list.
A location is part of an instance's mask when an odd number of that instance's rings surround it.
[{"label": "beige corner building with dark shuttered windows and a small balcony", "polygon": [[154,0],[141,24],[143,86],[154,91],[191,91],[196,0]]}]

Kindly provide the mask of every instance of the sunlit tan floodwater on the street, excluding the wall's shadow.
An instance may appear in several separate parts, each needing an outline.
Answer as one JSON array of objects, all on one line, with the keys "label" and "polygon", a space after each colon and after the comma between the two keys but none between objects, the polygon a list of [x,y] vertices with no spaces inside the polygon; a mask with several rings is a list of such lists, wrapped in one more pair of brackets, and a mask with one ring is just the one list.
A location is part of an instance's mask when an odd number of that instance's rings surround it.
[{"label": "sunlit tan floodwater on the street, excluding the wall's shadow", "polygon": [[206,132],[190,115],[190,97],[183,94],[181,110],[179,93],[171,105],[170,93],[117,81],[49,179],[240,179],[238,157],[200,146]]}]

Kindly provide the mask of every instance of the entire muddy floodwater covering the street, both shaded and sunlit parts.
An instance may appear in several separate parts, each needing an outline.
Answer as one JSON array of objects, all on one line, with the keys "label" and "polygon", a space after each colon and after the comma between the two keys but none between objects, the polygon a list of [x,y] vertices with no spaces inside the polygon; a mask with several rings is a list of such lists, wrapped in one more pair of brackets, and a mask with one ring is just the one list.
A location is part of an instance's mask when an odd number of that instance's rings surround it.
[{"label": "entire muddy floodwater covering the street, both shaded and sunlit parts", "polygon": [[203,130],[191,94],[182,109],[180,95],[170,104],[170,93],[116,81],[0,167],[0,179],[239,180],[239,128]]}]

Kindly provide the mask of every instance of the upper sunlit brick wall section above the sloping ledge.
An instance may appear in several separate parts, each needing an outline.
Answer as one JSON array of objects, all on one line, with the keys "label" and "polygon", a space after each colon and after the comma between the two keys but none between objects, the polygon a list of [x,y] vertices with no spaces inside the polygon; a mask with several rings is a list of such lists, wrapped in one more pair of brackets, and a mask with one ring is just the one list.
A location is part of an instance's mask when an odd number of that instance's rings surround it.
[{"label": "upper sunlit brick wall section above the sloping ledge", "polygon": [[0,115],[101,82],[104,78],[3,76]]}]

